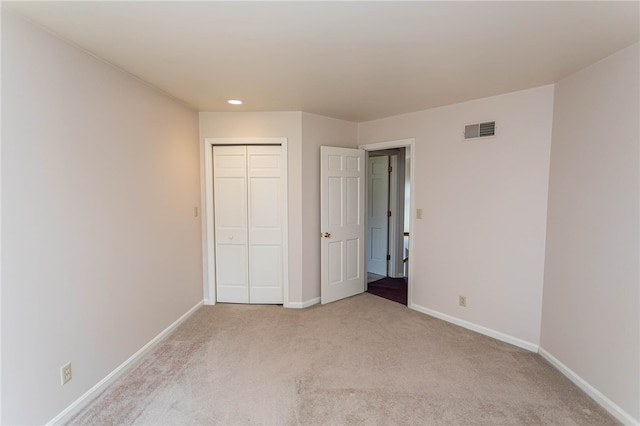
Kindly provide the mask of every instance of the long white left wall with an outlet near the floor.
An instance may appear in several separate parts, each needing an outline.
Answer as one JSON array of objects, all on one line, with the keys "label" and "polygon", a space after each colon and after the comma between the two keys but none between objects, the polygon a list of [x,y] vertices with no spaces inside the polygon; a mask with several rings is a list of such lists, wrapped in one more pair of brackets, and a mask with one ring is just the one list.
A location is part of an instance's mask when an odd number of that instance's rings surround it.
[{"label": "long white left wall with an outlet near the floor", "polygon": [[198,116],[2,15],[2,423],[42,424],[202,300]]}]

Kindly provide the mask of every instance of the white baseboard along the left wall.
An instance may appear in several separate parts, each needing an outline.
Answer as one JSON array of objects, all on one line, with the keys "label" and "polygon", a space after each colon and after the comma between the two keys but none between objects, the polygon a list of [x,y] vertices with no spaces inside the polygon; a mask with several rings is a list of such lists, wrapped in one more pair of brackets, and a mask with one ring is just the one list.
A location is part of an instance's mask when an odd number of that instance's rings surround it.
[{"label": "white baseboard along the left wall", "polygon": [[111,385],[116,379],[118,379],[129,366],[135,364],[140,358],[146,355],[151,349],[153,349],[158,343],[164,340],[173,330],[175,330],[180,324],[182,324],[187,318],[189,318],[195,311],[197,311],[204,301],[198,302],[193,308],[189,309],[184,315],[173,322],[169,327],[165,328],[156,337],[151,339],[149,343],[144,345],[138,352],[133,354],[128,360],[120,364],[115,370],[113,370],[107,377],[100,380],[94,387],[89,389],[80,398],[76,399],[71,405],[69,405],[64,411],[51,419],[47,426],[55,424],[64,424],[71,420],[71,417],[80,412],[87,406],[95,397],[100,395],[109,385]]}]

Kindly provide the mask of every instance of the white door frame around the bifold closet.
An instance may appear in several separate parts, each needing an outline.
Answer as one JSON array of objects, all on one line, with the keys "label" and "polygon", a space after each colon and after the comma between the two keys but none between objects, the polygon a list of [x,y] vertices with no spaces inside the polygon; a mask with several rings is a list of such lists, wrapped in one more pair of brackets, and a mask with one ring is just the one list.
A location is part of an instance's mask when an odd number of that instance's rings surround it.
[{"label": "white door frame around the bifold closet", "polygon": [[[202,204],[202,283],[204,304],[216,304],[215,232],[213,223],[213,146],[214,145],[280,145],[282,149],[282,298],[289,304],[289,202],[287,178],[287,138],[205,138],[202,141],[201,204]],[[409,240],[411,241],[411,240]]]}]

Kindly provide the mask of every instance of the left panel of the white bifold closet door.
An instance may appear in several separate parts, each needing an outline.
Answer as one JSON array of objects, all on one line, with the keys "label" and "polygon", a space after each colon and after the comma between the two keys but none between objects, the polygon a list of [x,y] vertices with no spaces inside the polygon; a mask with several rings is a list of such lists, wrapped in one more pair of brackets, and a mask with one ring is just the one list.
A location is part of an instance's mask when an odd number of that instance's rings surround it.
[{"label": "left panel of the white bifold closet door", "polygon": [[216,299],[249,303],[246,147],[214,146],[213,173]]}]

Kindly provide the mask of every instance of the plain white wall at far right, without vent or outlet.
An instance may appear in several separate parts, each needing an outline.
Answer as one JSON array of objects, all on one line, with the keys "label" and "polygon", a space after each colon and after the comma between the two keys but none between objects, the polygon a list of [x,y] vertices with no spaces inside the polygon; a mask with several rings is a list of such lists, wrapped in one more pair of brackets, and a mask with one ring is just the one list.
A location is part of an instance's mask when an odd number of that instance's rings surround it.
[{"label": "plain white wall at far right, without vent or outlet", "polygon": [[638,50],[635,44],[556,85],[541,337],[546,352],[636,422]]}]

